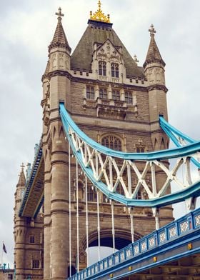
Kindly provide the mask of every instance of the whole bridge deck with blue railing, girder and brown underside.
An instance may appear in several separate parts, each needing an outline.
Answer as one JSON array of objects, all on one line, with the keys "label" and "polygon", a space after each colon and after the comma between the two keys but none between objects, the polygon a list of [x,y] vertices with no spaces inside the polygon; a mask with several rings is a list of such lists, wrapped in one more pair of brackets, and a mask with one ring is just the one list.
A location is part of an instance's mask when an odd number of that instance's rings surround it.
[{"label": "whole bridge deck with blue railing, girder and brown underside", "polygon": [[200,279],[199,267],[200,209],[196,209],[69,279],[181,279],[183,270]]}]

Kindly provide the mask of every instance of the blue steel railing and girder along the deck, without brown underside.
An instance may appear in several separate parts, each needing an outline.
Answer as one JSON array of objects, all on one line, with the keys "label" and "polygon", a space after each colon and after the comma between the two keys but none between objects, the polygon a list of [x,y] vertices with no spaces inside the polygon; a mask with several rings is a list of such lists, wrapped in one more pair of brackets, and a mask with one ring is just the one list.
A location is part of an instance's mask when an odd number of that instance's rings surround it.
[{"label": "blue steel railing and girder along the deck, without brown underside", "polygon": [[179,248],[191,241],[198,240],[200,240],[200,209],[191,211],[189,214],[186,214],[186,216],[163,226],[157,231],[151,232],[151,234],[129,244],[116,253],[107,256],[105,259],[96,262],[96,264],[92,264],[68,279],[89,280],[101,279],[101,277],[103,278],[106,276],[109,278],[109,274],[114,274],[115,272],[117,272],[117,276],[113,276],[112,279],[123,279],[123,276],[129,276],[136,272],[149,269],[152,266],[165,264],[171,260],[199,252],[200,243],[199,247],[196,249],[185,249],[184,253],[169,258],[164,257],[163,260],[157,261],[156,264],[148,264],[146,266],[138,267],[131,272],[126,271],[126,274],[119,274],[121,269],[128,268],[130,265],[139,264],[141,261],[144,261],[144,259],[153,258],[153,256],[157,256],[158,254],[166,254],[166,252],[171,251],[171,249],[174,249],[175,247]]}]

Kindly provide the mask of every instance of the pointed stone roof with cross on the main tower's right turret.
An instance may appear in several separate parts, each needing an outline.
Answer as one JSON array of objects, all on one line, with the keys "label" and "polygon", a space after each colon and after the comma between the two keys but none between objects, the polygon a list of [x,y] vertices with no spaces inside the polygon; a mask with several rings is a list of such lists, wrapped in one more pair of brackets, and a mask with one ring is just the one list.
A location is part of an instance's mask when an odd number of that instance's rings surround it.
[{"label": "pointed stone roof with cross on the main tower's right turret", "polygon": [[151,41],[149,44],[149,49],[147,51],[146,54],[146,60],[144,62],[144,67],[146,66],[146,64],[152,63],[152,62],[159,62],[160,64],[162,64],[163,66],[165,66],[164,60],[161,57],[161,54],[159,52],[159,48],[156,45],[156,41],[154,38],[154,34],[156,33],[156,30],[154,29],[154,25],[151,24],[151,27],[149,29],[150,32],[150,36],[151,36]]}]

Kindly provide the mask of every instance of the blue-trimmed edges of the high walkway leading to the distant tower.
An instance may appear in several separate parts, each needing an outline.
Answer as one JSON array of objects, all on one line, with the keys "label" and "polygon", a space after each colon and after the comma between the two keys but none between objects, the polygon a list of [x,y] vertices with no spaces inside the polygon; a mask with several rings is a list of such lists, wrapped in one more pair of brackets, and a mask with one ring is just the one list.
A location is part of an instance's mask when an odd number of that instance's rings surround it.
[{"label": "blue-trimmed edges of the high walkway leading to the distant tower", "polygon": [[[32,184],[34,182],[34,178],[36,176],[39,164],[41,162],[41,158],[42,158],[42,148],[41,148],[41,141],[40,141],[39,148],[37,149],[36,155],[34,157],[34,163],[33,163],[32,167],[31,167],[31,174],[29,176],[29,180],[26,182],[25,194],[24,194],[23,201],[21,203],[21,207],[19,209],[19,216],[22,216],[22,214],[23,214],[24,207],[26,206],[26,202],[27,202],[27,199],[29,197],[29,193],[30,193],[31,187],[32,187]],[[41,202],[39,204],[38,209],[36,209],[36,214],[39,212],[39,209],[40,209],[43,201],[44,201],[44,197],[41,199]],[[34,218],[36,217],[36,214],[34,215]]]}]

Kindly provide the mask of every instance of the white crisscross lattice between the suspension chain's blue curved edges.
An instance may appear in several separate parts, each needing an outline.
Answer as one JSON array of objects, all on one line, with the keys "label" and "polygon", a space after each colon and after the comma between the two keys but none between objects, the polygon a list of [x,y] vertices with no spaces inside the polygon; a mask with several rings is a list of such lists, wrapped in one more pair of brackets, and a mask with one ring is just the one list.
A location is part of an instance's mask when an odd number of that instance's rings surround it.
[{"label": "white crisscross lattice between the suspension chain's blue curved edges", "polygon": [[[191,156],[198,160],[199,153],[176,159],[176,163],[169,170],[167,167],[169,163],[166,160],[131,161],[117,159],[91,148],[71,128],[69,128],[69,135],[71,135],[76,151],[81,155],[84,166],[91,168],[94,179],[104,182],[106,189],[112,193],[119,193],[119,185],[121,185],[123,195],[127,199],[156,199],[171,193],[171,182],[176,184],[178,187],[176,191],[179,191],[199,181],[199,176],[196,177],[195,181],[191,178]],[[182,180],[178,176],[180,169],[181,173],[184,169]],[[162,177],[165,179],[162,184],[157,184],[156,173],[160,172],[165,174]],[[191,199],[189,201],[188,207],[190,208]]]}]

